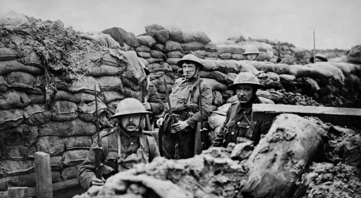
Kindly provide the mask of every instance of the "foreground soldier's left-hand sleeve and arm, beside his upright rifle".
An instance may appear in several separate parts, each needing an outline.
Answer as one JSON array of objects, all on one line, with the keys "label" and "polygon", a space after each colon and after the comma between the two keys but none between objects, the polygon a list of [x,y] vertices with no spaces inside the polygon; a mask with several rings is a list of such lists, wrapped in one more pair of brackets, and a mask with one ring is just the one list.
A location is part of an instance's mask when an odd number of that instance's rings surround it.
[{"label": "foreground soldier's left-hand sleeve and arm, beside his upright rifle", "polygon": [[[92,147],[90,148],[85,160],[81,163],[78,171],[78,181],[81,187],[88,190],[91,187],[92,179],[95,175],[95,153],[93,148],[98,146],[96,139],[94,140]],[[103,157],[101,156],[101,159]],[[101,160],[103,161],[103,160]]]}]

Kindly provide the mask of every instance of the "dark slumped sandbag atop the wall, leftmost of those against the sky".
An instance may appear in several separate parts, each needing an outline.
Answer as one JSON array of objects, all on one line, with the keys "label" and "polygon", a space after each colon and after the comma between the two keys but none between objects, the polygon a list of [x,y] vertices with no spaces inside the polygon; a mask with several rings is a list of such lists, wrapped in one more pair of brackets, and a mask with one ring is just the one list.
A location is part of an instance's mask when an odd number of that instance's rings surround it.
[{"label": "dark slumped sandbag atop the wall, leftmost of those against the sky", "polygon": [[131,32],[128,33],[127,31],[121,28],[117,28],[117,27],[109,28],[103,30],[102,33],[111,35],[113,39],[120,44],[120,46],[123,46],[123,43],[132,47],[139,46],[139,42],[136,39],[135,35]]}]

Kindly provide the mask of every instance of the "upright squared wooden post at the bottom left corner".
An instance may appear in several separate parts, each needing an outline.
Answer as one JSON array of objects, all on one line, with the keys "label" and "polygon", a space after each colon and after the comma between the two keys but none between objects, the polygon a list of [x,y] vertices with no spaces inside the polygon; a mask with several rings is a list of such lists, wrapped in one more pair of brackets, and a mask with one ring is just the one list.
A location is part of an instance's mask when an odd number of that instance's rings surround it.
[{"label": "upright squared wooden post at the bottom left corner", "polygon": [[36,197],[53,198],[52,170],[50,155],[45,152],[35,152]]}]

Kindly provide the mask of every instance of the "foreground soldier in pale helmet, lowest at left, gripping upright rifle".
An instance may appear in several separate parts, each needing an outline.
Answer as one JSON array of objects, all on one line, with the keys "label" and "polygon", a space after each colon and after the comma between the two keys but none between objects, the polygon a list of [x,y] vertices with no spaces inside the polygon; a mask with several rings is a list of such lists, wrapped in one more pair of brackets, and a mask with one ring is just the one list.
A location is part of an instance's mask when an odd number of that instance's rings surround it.
[{"label": "foreground soldier in pale helmet, lowest at left, gripping upright rifle", "polygon": [[[119,124],[113,129],[100,132],[103,154],[103,177],[130,169],[137,163],[149,163],[160,156],[154,137],[143,133],[140,124],[145,114],[151,113],[144,109],[137,99],[127,98],[120,101],[116,113],[110,118],[118,118]],[[91,186],[101,186],[104,178],[95,176],[94,150],[98,145],[95,139],[84,162],[79,167],[78,181],[84,189]]]}]

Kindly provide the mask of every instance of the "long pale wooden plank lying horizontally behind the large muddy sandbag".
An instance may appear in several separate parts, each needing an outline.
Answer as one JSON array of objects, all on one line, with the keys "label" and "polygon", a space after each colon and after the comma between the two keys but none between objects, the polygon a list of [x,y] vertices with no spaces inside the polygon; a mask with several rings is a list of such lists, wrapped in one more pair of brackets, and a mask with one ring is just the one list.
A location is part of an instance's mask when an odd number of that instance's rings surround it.
[{"label": "long pale wooden plank lying horizontally behind the large muddy sandbag", "polygon": [[252,104],[252,120],[273,120],[279,114],[315,116],[333,125],[361,127],[361,109],[288,104]]}]

